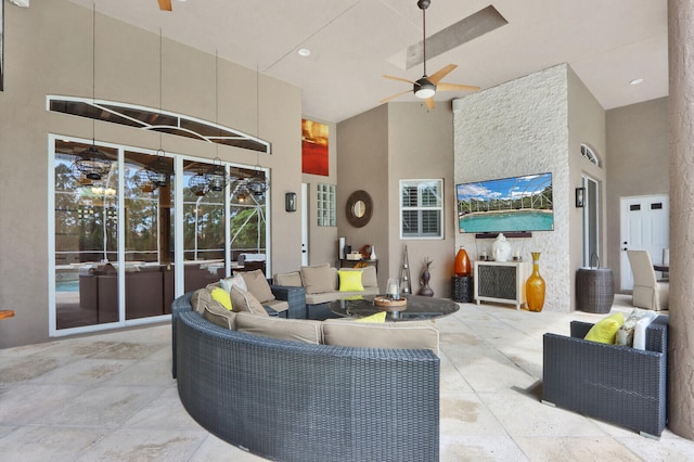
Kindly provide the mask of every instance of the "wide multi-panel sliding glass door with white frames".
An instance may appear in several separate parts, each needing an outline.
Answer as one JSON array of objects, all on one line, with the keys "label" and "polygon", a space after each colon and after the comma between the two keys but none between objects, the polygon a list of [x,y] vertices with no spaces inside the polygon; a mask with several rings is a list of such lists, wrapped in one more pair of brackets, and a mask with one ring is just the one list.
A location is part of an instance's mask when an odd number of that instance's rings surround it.
[{"label": "wide multi-panel sliding glass door with white frames", "polygon": [[[51,335],[164,320],[177,286],[250,269],[250,254],[266,268],[266,194],[254,181],[267,172],[223,166],[224,184],[209,188],[209,161],[57,137],[51,145]],[[107,167],[79,169],[90,147]]]}]

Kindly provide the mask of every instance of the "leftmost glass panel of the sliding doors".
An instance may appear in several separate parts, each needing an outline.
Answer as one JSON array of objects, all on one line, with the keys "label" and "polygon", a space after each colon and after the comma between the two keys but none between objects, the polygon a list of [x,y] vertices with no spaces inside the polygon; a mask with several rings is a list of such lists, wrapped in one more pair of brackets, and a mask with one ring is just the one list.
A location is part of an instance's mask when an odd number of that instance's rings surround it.
[{"label": "leftmost glass panel of the sliding doors", "polygon": [[97,146],[112,161],[88,178],[76,161],[90,147],[55,143],[55,325],[57,330],[118,321],[118,168],[116,150]]}]

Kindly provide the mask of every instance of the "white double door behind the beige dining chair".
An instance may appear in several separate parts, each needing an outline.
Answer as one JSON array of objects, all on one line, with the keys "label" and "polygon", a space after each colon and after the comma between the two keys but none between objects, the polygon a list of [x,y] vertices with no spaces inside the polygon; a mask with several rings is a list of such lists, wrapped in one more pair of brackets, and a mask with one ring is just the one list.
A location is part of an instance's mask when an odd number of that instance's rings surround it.
[{"label": "white double door behind the beige dining chair", "polygon": [[633,274],[627,251],[648,251],[654,265],[663,262],[663,251],[669,248],[668,196],[644,195],[622,197],[620,272],[622,291],[633,288]]}]

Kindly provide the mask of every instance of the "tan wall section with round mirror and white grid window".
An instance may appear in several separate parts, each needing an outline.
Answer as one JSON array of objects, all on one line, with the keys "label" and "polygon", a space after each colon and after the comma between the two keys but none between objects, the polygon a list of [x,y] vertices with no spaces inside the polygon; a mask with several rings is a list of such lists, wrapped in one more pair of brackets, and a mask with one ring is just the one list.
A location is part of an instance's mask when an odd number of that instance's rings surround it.
[{"label": "tan wall section with round mirror and white grid window", "polygon": [[[420,290],[420,273],[430,258],[429,286],[434,296],[450,297],[450,278],[455,256],[453,205],[453,115],[449,102],[437,102],[433,111],[421,103],[389,103],[344,120],[338,128],[338,234],[360,248],[376,246],[378,285],[400,278],[404,246],[408,247],[412,292]],[[400,180],[444,179],[445,235],[442,240],[400,239]],[[363,189],[374,202],[369,224],[354,228],[345,207],[349,194]]]}]

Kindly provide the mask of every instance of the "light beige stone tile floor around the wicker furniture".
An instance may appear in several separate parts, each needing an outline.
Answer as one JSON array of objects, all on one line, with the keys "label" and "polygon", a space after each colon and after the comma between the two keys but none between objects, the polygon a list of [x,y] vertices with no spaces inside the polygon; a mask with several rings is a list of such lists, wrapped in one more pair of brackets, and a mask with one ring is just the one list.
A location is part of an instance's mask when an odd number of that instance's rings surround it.
[{"label": "light beige stone tile floor around the wicker furniture", "polygon": [[[601,317],[461,304],[438,320],[441,460],[694,461],[667,428],[656,441],[540,402],[542,334]],[[188,415],[170,362],[168,324],[0,350],[0,460],[264,460]]]}]

